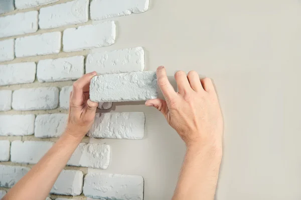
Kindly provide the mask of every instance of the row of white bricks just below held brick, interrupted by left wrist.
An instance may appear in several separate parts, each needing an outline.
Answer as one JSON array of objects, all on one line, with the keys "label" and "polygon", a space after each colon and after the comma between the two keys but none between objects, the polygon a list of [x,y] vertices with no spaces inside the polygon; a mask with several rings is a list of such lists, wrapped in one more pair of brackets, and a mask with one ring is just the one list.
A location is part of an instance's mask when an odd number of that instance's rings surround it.
[{"label": "row of white bricks just below held brick, interrupted by left wrist", "polygon": [[[53,113],[24,115],[0,115],[0,136],[32,135],[59,137],[64,132],[68,114]],[[145,115],[143,112],[96,113],[87,135],[95,138],[142,139]]]}]

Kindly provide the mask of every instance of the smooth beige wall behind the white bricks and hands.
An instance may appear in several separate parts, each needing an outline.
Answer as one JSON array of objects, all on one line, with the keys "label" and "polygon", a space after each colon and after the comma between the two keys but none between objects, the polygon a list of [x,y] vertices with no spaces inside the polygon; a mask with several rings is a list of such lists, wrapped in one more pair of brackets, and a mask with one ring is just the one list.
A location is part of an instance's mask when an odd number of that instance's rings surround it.
[{"label": "smooth beige wall behind the white bricks and hands", "polygon": [[[150,0],[145,13],[113,19],[117,21],[116,42],[102,50],[143,46],[146,70],[165,65],[170,76],[182,69],[214,79],[225,120],[216,199],[301,199],[300,0]],[[71,83],[34,82],[0,89]],[[58,111],[62,110],[5,113]],[[171,199],[185,154],[184,143],[155,108],[116,103],[113,111],[144,111],[145,137],[91,139],[112,147],[111,163],[105,171],[142,175],[144,200]],[[22,139],[38,140],[33,136]]]}]

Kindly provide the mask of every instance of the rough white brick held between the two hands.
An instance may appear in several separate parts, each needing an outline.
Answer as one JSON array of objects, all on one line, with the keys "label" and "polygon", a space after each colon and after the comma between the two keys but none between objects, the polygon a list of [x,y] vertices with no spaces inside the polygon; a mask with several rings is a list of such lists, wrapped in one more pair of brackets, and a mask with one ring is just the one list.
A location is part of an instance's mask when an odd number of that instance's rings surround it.
[{"label": "rough white brick held between the two hands", "polygon": [[152,71],[98,75],[90,83],[90,99],[95,102],[137,101],[157,97],[157,75]]}]

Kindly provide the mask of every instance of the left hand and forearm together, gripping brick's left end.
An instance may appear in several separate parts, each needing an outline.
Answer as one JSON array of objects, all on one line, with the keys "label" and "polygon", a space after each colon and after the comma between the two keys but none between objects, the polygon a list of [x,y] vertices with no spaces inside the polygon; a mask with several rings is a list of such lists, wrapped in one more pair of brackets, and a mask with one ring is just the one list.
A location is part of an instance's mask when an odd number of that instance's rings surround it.
[{"label": "left hand and forearm together, gripping brick's left end", "polygon": [[90,129],[98,103],[89,99],[89,85],[96,72],[73,84],[67,128],[58,141],[3,197],[3,200],[45,199],[72,153]]}]

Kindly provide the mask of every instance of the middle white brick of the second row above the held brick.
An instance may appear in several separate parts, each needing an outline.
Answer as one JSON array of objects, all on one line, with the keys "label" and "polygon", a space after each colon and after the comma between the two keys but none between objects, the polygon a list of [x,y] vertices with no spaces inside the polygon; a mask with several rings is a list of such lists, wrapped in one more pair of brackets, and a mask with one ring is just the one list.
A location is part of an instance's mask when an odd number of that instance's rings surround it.
[{"label": "middle white brick of the second row above the held brick", "polygon": [[61,32],[19,37],[15,45],[16,57],[58,53],[61,50],[61,37]]}]

